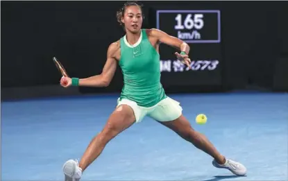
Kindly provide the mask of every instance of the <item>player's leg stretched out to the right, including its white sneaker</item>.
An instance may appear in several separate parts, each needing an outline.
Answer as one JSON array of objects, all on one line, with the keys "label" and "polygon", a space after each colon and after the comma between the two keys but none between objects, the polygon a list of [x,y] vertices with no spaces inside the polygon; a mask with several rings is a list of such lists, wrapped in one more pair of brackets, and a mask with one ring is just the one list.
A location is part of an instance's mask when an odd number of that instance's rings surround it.
[{"label": "player's leg stretched out to the right, including its white sneaker", "polygon": [[205,135],[192,128],[189,121],[183,115],[174,121],[163,121],[160,123],[176,132],[183,139],[194,144],[196,148],[203,150],[205,153],[212,156],[214,158],[212,164],[217,168],[229,169],[236,175],[246,174],[246,168],[242,164],[226,159],[221,155]]}]

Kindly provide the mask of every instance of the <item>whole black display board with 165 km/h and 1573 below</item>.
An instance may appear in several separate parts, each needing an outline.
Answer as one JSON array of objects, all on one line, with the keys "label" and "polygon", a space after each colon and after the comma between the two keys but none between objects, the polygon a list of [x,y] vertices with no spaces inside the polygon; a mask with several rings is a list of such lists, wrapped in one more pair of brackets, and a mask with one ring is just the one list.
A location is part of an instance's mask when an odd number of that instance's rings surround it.
[{"label": "whole black display board with 165 km/h and 1573 below", "polygon": [[220,10],[157,10],[156,27],[187,42],[192,60],[187,69],[174,48],[160,44],[163,85],[221,85]]}]

